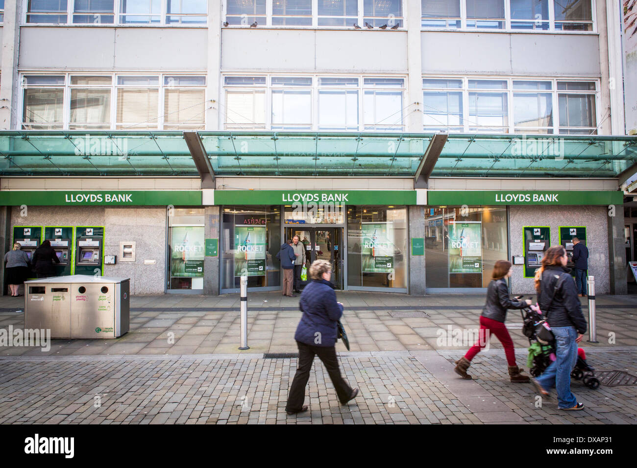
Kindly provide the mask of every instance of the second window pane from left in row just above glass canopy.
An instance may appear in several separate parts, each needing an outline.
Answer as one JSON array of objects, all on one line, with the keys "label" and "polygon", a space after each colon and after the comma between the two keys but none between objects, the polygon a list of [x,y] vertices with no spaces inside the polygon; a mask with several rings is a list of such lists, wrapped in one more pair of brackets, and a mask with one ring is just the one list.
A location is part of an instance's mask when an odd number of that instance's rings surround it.
[{"label": "second window pane from left in row just above glass canopy", "polygon": [[69,129],[109,129],[111,76],[71,76]]}]

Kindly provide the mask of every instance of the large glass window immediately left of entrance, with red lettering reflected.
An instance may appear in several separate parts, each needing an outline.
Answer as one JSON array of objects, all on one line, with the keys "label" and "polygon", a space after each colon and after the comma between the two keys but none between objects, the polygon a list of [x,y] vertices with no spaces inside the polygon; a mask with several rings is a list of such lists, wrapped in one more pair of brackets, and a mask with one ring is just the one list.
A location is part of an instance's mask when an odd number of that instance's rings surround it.
[{"label": "large glass window immediately left of entrance, with red lettering reflected", "polygon": [[248,288],[281,286],[280,206],[224,206],[222,208],[221,290],[236,290],[241,276]]}]

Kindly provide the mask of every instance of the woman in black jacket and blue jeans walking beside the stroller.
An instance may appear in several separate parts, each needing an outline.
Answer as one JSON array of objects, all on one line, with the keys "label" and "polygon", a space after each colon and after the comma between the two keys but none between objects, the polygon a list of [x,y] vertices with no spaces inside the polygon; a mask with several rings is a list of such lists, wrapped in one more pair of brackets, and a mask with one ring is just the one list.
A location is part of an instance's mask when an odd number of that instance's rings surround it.
[{"label": "woman in black jacket and blue jeans walking beside the stroller", "polygon": [[557,408],[582,409],[571,392],[571,371],[577,361],[577,343],[586,332],[582,304],[573,277],[566,269],[568,256],[561,245],[549,248],[535,274],[538,304],[555,336],[555,360],[533,383],[542,395],[557,388]]}]

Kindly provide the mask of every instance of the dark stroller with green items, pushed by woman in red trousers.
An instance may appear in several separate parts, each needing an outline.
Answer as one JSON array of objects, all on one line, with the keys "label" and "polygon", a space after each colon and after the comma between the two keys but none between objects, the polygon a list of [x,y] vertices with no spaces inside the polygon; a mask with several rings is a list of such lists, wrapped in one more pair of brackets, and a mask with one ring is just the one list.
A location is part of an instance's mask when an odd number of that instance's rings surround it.
[{"label": "dark stroller with green items, pushed by woman in red trousers", "polygon": [[[522,299],[522,296],[517,297]],[[536,311],[533,308],[524,308],[520,310],[522,314],[522,334],[529,339],[529,374],[533,377],[539,376],[544,372],[547,367],[555,360],[555,343],[546,343],[538,339],[535,333],[535,326],[543,320],[543,315],[540,311]],[[586,353],[582,348],[577,349],[577,362],[573,371],[571,371],[571,378],[576,380],[582,380],[583,384],[589,388],[595,389],[599,386],[599,379],[595,377],[594,367],[591,367],[586,362]]]}]

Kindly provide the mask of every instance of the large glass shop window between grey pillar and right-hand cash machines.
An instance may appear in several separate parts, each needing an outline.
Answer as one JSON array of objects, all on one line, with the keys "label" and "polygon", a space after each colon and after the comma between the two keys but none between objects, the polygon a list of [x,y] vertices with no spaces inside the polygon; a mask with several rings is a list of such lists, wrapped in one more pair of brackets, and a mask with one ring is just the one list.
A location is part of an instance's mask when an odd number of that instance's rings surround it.
[{"label": "large glass shop window between grey pillar and right-hand cash machines", "polygon": [[425,208],[429,288],[485,288],[497,260],[508,259],[506,208]]}]

